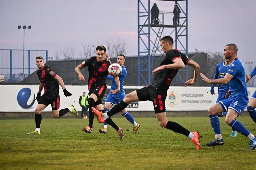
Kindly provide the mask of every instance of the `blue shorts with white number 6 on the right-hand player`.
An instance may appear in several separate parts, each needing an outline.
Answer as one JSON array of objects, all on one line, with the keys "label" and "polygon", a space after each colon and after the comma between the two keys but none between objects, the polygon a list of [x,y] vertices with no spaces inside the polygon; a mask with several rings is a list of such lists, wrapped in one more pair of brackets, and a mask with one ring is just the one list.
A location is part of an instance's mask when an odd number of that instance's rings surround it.
[{"label": "blue shorts with white number 6 on the right-hand player", "polygon": [[231,96],[230,98],[219,101],[219,103],[224,111],[233,109],[240,115],[247,106],[248,100],[242,96]]}]

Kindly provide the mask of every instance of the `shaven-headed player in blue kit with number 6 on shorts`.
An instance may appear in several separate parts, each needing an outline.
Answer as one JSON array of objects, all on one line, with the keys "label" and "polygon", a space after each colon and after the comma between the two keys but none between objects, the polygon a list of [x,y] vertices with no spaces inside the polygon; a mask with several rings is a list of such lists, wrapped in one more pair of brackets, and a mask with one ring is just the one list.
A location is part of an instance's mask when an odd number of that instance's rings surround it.
[{"label": "shaven-headed player in blue kit with number 6 on shorts", "polygon": [[[220,79],[208,79],[204,74],[200,73],[202,80],[210,84],[228,84],[231,97],[221,100],[208,110],[208,115],[211,122],[217,122],[216,116],[218,113],[228,111],[225,122],[247,137],[250,140],[250,150],[254,150],[256,147],[256,137],[247,130],[244,125],[236,120],[245,109],[248,103],[248,91],[246,86],[246,72],[243,63],[237,57],[237,46],[235,44],[228,44],[224,48],[223,52],[225,59],[229,59],[231,64],[228,67],[228,72],[224,78]],[[220,129],[219,123],[213,123],[212,129],[214,132],[216,129]],[[207,146],[223,145],[224,141],[221,134],[215,135],[213,141],[207,143]]]}]

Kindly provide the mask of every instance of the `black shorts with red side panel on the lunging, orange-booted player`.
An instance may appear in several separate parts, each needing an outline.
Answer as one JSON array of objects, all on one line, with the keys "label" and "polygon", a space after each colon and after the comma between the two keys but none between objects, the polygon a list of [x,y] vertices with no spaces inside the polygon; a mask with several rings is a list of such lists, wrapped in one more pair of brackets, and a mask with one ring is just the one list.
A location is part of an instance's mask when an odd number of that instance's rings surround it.
[{"label": "black shorts with red side panel on the lunging, orange-booted player", "polygon": [[151,85],[138,89],[136,92],[140,101],[153,102],[155,113],[165,112],[167,92],[160,91]]}]

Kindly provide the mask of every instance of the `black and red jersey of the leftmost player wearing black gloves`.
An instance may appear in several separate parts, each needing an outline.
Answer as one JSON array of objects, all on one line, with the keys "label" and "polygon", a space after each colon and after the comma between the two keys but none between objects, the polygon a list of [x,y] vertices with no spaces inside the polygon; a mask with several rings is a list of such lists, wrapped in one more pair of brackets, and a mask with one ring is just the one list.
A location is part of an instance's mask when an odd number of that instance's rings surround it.
[{"label": "black and red jersey of the leftmost player wearing black gloves", "polygon": [[37,71],[39,81],[43,84],[44,95],[57,96],[60,90],[58,80],[54,79],[57,74],[52,71],[48,66],[44,65],[41,70]]}]

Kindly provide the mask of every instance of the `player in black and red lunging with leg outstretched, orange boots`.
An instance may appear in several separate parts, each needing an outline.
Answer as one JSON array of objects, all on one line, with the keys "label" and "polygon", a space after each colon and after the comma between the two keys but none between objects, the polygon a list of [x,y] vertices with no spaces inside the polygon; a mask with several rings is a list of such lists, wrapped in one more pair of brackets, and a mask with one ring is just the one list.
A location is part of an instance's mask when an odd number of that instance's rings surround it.
[{"label": "player in black and red lunging with leg outstretched, orange boots", "polygon": [[[169,89],[172,79],[176,76],[179,69],[184,68],[185,64],[181,59],[181,54],[177,49],[173,47],[173,39],[170,36],[165,36],[161,39],[161,48],[166,53],[164,59],[160,63],[160,67],[157,67],[152,71],[155,74],[151,85],[130,92],[125,98],[115,107],[113,107],[108,113],[98,112],[95,108],[92,108],[94,114],[98,117],[98,121],[103,123],[108,120],[110,116],[123,110],[129,103],[135,101],[152,101],[156,117],[160,126],[171,129],[176,133],[186,135],[196,145],[196,149],[199,150],[201,143],[199,140],[198,132],[190,132],[180,124],[176,122],[168,121],[165,112],[165,99],[167,90]],[[186,61],[187,62],[187,61]]]}]

